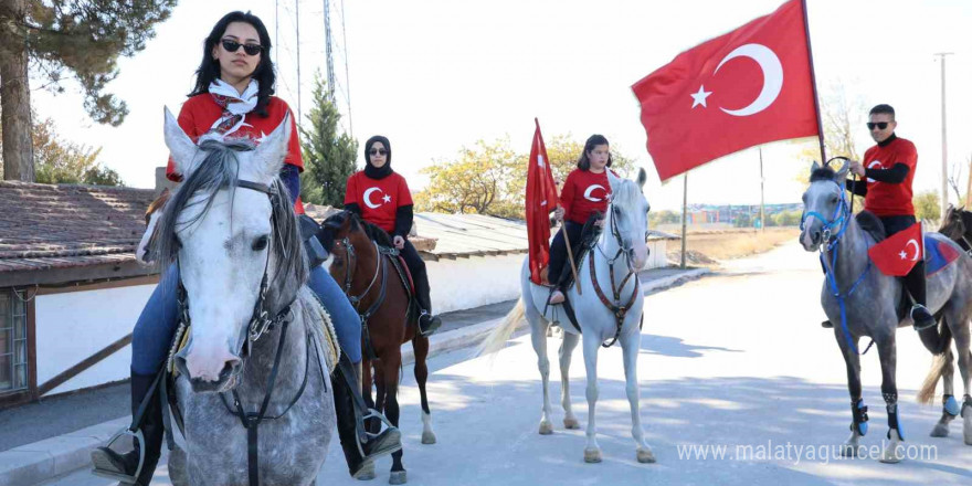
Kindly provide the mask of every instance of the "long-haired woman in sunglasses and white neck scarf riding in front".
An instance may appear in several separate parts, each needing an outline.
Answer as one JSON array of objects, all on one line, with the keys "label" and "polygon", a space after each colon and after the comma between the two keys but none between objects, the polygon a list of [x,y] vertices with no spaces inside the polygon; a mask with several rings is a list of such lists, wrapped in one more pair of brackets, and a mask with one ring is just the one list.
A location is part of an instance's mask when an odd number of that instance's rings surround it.
[{"label": "long-haired woman in sunglasses and white neck scarf riding in front", "polygon": [[[203,43],[202,62],[196,72],[196,87],[179,113],[179,126],[197,139],[207,134],[224,137],[246,137],[260,140],[288,115],[290,140],[281,180],[287,187],[294,210],[304,213],[300,203],[299,173],[304,169],[296,120],[287,104],[275,96],[274,65],[270,56],[271,41],[266,28],[256,15],[231,12],[220,19]],[[167,176],[181,180],[169,160]],[[150,228],[148,231],[152,231]],[[145,309],[135,325],[131,337],[131,410],[136,414],[149,393],[156,373],[166,360],[166,352],[178,325],[176,302],[178,270],[175,265],[165,272]],[[357,430],[367,410],[357,410],[353,393],[360,393],[352,362],[361,360],[361,324],[337,283],[318,266],[310,271],[310,288],[328,309],[342,348],[341,363],[334,372],[335,410],[341,447],[351,475],[357,474],[369,459],[401,448],[401,434],[388,429],[380,435],[359,444]],[[107,447],[92,453],[95,473],[122,480],[123,484],[147,486],[159,459],[163,436],[162,410],[157,399],[148,408],[138,425],[145,436],[135,450],[119,454]],[[360,445],[360,448],[359,448]],[[145,447],[145,459],[139,468],[139,448]],[[363,452],[363,456],[361,452]]]}]

